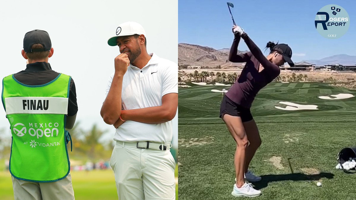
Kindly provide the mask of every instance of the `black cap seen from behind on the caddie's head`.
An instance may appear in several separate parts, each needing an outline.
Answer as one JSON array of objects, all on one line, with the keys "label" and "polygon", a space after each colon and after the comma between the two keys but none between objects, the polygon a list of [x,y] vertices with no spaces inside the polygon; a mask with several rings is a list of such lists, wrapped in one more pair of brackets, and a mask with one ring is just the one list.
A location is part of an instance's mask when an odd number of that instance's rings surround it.
[{"label": "black cap seen from behind on the caddie's head", "polygon": [[[33,44],[40,43],[43,45],[43,48],[41,49],[31,49]],[[52,48],[52,43],[51,43],[51,38],[49,38],[49,35],[47,31],[42,31],[42,30],[33,30],[30,32],[27,32],[25,34],[25,37],[23,38],[23,50],[26,53],[31,53],[31,52],[41,52],[41,51],[49,51]]]}]

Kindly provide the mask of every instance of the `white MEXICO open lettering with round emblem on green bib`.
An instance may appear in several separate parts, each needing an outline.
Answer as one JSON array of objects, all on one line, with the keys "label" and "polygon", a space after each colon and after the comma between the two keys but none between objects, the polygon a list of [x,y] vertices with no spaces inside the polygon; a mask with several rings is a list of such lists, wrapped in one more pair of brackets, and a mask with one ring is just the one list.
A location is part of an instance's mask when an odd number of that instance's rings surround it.
[{"label": "white MEXICO open lettering with round emblem on green bib", "polygon": [[[40,137],[43,137],[43,136],[46,136],[46,137],[53,137],[54,136],[58,136],[58,127],[59,124],[57,122],[55,123],[28,123],[28,134],[30,136],[33,136],[33,137],[37,137],[40,138]],[[36,129],[35,129],[36,128]],[[42,128],[45,128],[44,130]],[[13,131],[14,133],[19,136],[19,137],[22,137],[26,134],[27,132],[27,128],[25,127],[25,125],[23,123],[16,123],[14,125],[14,128],[13,128]]]}]

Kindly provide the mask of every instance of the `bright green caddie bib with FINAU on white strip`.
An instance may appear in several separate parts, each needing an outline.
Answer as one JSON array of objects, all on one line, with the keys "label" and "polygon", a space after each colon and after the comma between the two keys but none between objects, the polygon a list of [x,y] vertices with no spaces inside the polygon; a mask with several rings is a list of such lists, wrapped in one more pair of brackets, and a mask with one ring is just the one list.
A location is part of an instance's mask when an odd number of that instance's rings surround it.
[{"label": "bright green caddie bib with FINAU on white strip", "polygon": [[10,173],[17,179],[53,182],[70,170],[65,131],[70,76],[26,85],[14,75],[2,80],[2,104],[12,133]]}]

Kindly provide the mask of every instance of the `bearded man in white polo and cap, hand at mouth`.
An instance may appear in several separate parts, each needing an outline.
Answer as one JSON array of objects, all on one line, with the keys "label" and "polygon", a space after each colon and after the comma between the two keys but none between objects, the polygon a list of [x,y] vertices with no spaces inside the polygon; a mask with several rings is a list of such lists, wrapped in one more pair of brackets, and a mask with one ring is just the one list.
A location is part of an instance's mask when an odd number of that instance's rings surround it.
[{"label": "bearded man in white polo and cap, hand at mouth", "polygon": [[178,107],[178,66],[147,53],[146,32],[125,22],[108,40],[119,46],[100,114],[114,125],[110,165],[119,199],[175,199],[172,119]]}]

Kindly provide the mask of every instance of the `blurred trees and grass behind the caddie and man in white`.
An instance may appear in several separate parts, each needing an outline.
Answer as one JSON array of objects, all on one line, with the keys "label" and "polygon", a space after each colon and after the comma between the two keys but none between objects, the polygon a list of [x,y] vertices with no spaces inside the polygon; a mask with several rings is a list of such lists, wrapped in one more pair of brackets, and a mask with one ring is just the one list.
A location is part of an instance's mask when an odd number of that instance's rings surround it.
[{"label": "blurred trees and grass behind the caddie and man in white", "polygon": [[[4,133],[4,129],[0,129],[0,133]],[[112,169],[94,169],[90,171],[73,170],[77,167],[84,169],[86,163],[96,163],[98,168],[99,162],[110,162],[112,148],[115,142],[103,140],[103,136],[107,130],[101,130],[98,126],[93,125],[89,130],[85,131],[80,127],[78,121],[73,129],[69,130],[73,141],[73,151],[70,151],[71,143],[67,144],[70,165],[72,170],[72,183],[75,199],[78,200],[114,200],[117,199],[115,178]],[[12,190],[11,174],[5,167],[5,160],[10,158],[11,137],[2,137],[0,140],[0,200],[14,199]],[[177,162],[177,149],[171,148],[171,153]],[[176,178],[178,177],[178,167],[176,166]],[[176,181],[177,183],[177,181]],[[176,198],[178,198],[178,185],[176,184]]]}]

